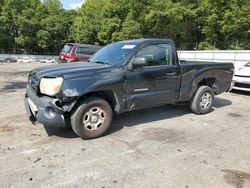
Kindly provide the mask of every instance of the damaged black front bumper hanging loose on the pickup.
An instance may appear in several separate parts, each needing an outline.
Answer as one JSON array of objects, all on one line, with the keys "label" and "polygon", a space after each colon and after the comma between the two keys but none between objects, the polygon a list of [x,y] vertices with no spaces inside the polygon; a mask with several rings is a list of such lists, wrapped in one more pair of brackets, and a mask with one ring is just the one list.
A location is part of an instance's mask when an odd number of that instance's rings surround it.
[{"label": "damaged black front bumper hanging loose on the pickup", "polygon": [[26,86],[25,110],[33,124],[39,122],[45,126],[65,127],[63,111],[56,105],[56,101],[48,96],[39,97],[30,85]]}]

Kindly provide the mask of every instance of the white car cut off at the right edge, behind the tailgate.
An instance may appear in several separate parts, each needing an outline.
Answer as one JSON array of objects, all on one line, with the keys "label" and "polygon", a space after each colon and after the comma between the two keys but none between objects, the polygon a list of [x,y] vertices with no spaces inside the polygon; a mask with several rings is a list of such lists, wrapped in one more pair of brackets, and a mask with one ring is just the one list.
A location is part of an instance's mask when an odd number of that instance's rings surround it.
[{"label": "white car cut off at the right edge, behind the tailgate", "polygon": [[233,89],[250,92],[250,62],[235,71]]}]

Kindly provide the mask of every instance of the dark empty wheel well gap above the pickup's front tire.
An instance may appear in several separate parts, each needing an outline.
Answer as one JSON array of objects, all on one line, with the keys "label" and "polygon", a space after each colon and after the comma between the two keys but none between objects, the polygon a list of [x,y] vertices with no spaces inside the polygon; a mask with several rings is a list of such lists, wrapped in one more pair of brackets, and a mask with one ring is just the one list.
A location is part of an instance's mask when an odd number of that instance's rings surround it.
[{"label": "dark empty wheel well gap above the pickup's front tire", "polygon": [[86,97],[99,97],[99,98],[102,98],[102,99],[106,100],[110,104],[110,106],[111,106],[111,108],[112,108],[112,110],[114,112],[117,112],[116,107],[119,104],[117,104],[117,100],[116,100],[116,97],[115,97],[115,94],[114,94],[113,91],[102,90],[102,91],[90,92],[90,93],[84,94],[82,97],[80,97],[78,99],[78,101],[83,100]]}]

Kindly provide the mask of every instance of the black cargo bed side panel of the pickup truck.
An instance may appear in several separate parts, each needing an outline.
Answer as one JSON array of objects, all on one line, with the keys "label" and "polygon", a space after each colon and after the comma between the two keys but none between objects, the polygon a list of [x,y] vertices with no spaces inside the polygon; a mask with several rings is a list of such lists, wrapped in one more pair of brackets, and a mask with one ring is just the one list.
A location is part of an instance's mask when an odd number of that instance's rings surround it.
[{"label": "black cargo bed side panel of the pickup truck", "polygon": [[201,83],[211,86],[215,94],[226,92],[231,86],[233,63],[180,60],[180,67],[179,101],[190,100]]}]

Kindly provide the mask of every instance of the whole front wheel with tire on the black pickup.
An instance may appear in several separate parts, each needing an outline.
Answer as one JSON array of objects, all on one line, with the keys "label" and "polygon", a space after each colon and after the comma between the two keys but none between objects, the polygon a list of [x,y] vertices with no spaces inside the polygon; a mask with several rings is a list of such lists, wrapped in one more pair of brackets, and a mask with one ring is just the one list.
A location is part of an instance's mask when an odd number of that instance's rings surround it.
[{"label": "whole front wheel with tire on the black pickup", "polygon": [[73,131],[83,139],[102,136],[113,117],[109,103],[101,98],[90,97],[78,103],[71,114]]}]

